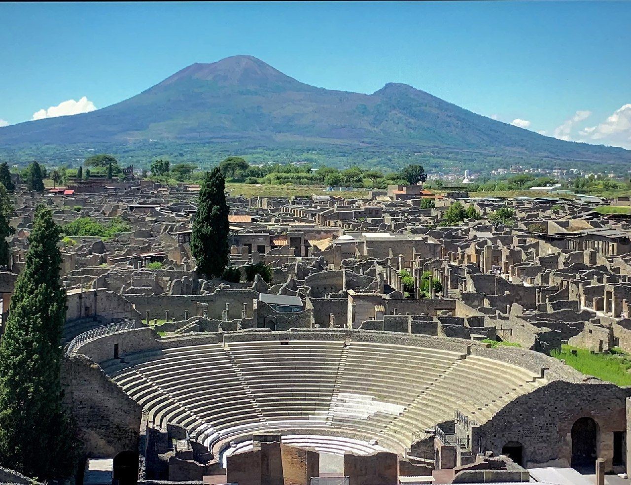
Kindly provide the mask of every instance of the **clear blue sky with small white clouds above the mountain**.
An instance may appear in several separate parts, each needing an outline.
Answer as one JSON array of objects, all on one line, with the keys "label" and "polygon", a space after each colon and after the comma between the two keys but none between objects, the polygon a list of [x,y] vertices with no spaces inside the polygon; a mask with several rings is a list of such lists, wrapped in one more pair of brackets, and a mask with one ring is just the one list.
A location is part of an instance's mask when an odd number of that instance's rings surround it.
[{"label": "clear blue sky with small white clouds above the mountain", "polygon": [[407,83],[548,136],[631,148],[630,25],[627,1],[3,3],[0,120],[102,108],[193,62],[251,54],[315,86]]}]

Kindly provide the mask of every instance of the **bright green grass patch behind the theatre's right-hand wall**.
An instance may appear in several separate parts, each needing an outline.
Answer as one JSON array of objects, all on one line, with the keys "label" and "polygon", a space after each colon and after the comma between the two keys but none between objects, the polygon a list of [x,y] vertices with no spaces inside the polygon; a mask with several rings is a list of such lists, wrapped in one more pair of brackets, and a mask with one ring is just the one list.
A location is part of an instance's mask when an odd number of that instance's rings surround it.
[{"label": "bright green grass patch behind the theatre's right-hand wall", "polygon": [[[575,350],[576,355],[571,351]],[[565,363],[587,375],[613,382],[617,385],[631,385],[631,356],[621,349],[614,348],[610,353],[593,354],[587,349],[562,345],[560,351],[552,351],[551,356],[564,359]]]}]

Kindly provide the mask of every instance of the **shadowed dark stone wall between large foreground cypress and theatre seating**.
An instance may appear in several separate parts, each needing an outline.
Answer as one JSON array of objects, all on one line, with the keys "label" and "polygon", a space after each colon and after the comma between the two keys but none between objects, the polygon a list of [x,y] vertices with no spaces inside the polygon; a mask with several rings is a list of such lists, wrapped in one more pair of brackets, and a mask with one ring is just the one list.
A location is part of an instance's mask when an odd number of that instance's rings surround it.
[{"label": "shadowed dark stone wall between large foreground cypress and theatre seating", "polygon": [[64,406],[76,422],[83,454],[114,457],[138,450],[139,404],[85,357],[64,359],[61,375]]}]

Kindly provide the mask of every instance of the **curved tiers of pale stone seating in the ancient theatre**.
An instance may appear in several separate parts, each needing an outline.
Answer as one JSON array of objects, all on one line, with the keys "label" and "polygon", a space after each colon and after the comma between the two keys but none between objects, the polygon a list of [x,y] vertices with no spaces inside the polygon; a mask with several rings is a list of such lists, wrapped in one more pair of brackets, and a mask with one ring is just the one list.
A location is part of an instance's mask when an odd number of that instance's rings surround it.
[{"label": "curved tiers of pale stone seating in the ancient theatre", "polygon": [[103,368],[155,428],[184,426],[214,452],[259,431],[376,439],[403,452],[412,433],[456,410],[484,423],[546,382],[478,356],[343,341],[204,344],[133,354],[124,366]]}]

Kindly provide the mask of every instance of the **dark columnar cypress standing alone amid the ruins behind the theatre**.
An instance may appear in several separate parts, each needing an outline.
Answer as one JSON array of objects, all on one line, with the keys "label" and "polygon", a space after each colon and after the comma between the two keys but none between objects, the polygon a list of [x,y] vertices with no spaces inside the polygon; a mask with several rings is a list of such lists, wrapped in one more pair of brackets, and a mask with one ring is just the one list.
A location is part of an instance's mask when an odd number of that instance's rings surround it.
[{"label": "dark columnar cypress standing alone amid the ruins behind the theatre", "polygon": [[206,172],[199,190],[193,221],[191,251],[198,271],[206,278],[219,277],[228,266],[228,204],[225,179],[218,167]]}]

